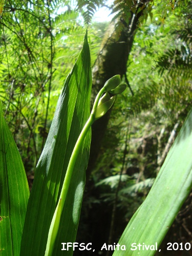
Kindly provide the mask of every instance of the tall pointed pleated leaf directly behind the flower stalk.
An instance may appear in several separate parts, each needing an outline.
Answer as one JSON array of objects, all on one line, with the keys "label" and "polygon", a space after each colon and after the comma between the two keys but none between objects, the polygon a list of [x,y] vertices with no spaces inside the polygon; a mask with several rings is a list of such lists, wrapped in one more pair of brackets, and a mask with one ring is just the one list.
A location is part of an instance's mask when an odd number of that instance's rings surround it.
[{"label": "tall pointed pleated leaf directly behind the flower stalk", "polygon": [[[38,161],[29,198],[21,255],[44,255],[49,227],[78,136],[90,115],[91,61],[87,33],[83,49],[64,84],[47,142]],[[74,242],[79,222],[91,131],[84,140],[61,214],[53,255],[63,255],[61,243]],[[72,255],[73,251],[65,251]]]}]

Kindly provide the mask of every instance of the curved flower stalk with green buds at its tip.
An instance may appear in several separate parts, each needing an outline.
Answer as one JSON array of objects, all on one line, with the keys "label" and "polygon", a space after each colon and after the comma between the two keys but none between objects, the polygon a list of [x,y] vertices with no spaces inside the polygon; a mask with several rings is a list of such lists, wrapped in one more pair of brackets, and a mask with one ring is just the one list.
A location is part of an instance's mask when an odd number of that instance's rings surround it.
[{"label": "curved flower stalk with green buds at its tip", "polygon": [[[65,200],[67,197],[67,193],[68,193],[68,189],[69,189],[69,185],[70,185],[70,181],[71,181],[71,176],[73,174],[74,165],[76,163],[77,156],[79,154],[79,151],[80,151],[81,145],[84,141],[84,138],[86,138],[86,135],[87,135],[89,129],[91,128],[91,125],[94,123],[94,121],[97,120],[98,118],[100,118],[101,116],[103,116],[111,108],[111,106],[113,105],[113,103],[115,101],[115,97],[116,97],[115,89],[117,87],[119,87],[120,84],[121,84],[120,75],[113,76],[112,78],[110,78],[108,81],[105,82],[103,88],[99,91],[99,93],[97,94],[97,96],[95,98],[95,102],[93,105],[91,115],[90,115],[88,121],[86,122],[86,124],[84,125],[84,127],[78,137],[78,140],[73,149],[71,158],[69,160],[65,180],[64,180],[62,188],[61,188],[59,201],[58,201],[57,207],[55,209],[53,219],[51,222],[51,226],[49,229],[45,256],[51,256],[53,253],[53,248],[54,248],[54,244],[55,244],[55,240],[56,240],[56,236],[57,236],[57,232],[58,232],[58,228],[59,228],[59,223],[60,223],[61,212],[62,212],[63,206],[65,204]],[[124,90],[125,90],[125,88],[126,87],[124,87]],[[114,95],[112,97],[110,97],[108,91],[110,91],[110,93],[113,93]],[[119,90],[118,90],[118,92],[119,92]],[[105,93],[105,94],[103,95],[103,93]],[[117,94],[119,94],[119,93],[117,93]],[[102,95],[103,95],[103,97],[102,97]]]}]

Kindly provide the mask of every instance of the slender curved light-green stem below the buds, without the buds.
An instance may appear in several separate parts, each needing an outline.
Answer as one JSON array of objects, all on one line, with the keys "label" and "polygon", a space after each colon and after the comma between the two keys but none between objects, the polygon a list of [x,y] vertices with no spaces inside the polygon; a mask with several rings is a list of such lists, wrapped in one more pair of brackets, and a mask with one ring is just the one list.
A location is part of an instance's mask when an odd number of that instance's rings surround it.
[{"label": "slender curved light-green stem below the buds, without the buds", "polygon": [[55,209],[53,219],[52,219],[52,222],[51,222],[51,226],[50,226],[50,229],[49,229],[45,256],[51,256],[52,255],[55,240],[56,240],[56,236],[57,236],[57,232],[58,232],[58,228],[59,228],[60,216],[61,216],[61,212],[62,212],[63,206],[65,204],[65,200],[66,200],[66,197],[67,197],[67,193],[68,193],[68,189],[69,189],[69,185],[70,185],[74,165],[76,163],[77,156],[79,154],[79,151],[80,151],[81,145],[84,141],[84,138],[86,137],[91,125],[95,121],[95,111],[96,111],[96,108],[98,106],[99,99],[100,99],[100,97],[102,96],[102,94],[104,92],[105,92],[105,89],[102,88],[99,91],[99,93],[97,94],[97,97],[95,99],[91,115],[90,115],[88,121],[86,122],[86,124],[84,125],[84,127],[83,127],[83,129],[82,129],[82,131],[81,131],[81,133],[78,137],[78,140],[77,140],[77,142],[75,144],[75,147],[73,149],[71,158],[69,160],[69,164],[68,164],[68,168],[67,168],[67,171],[66,171],[65,180],[64,180],[63,185],[62,185],[59,201],[58,201],[57,207]]}]

